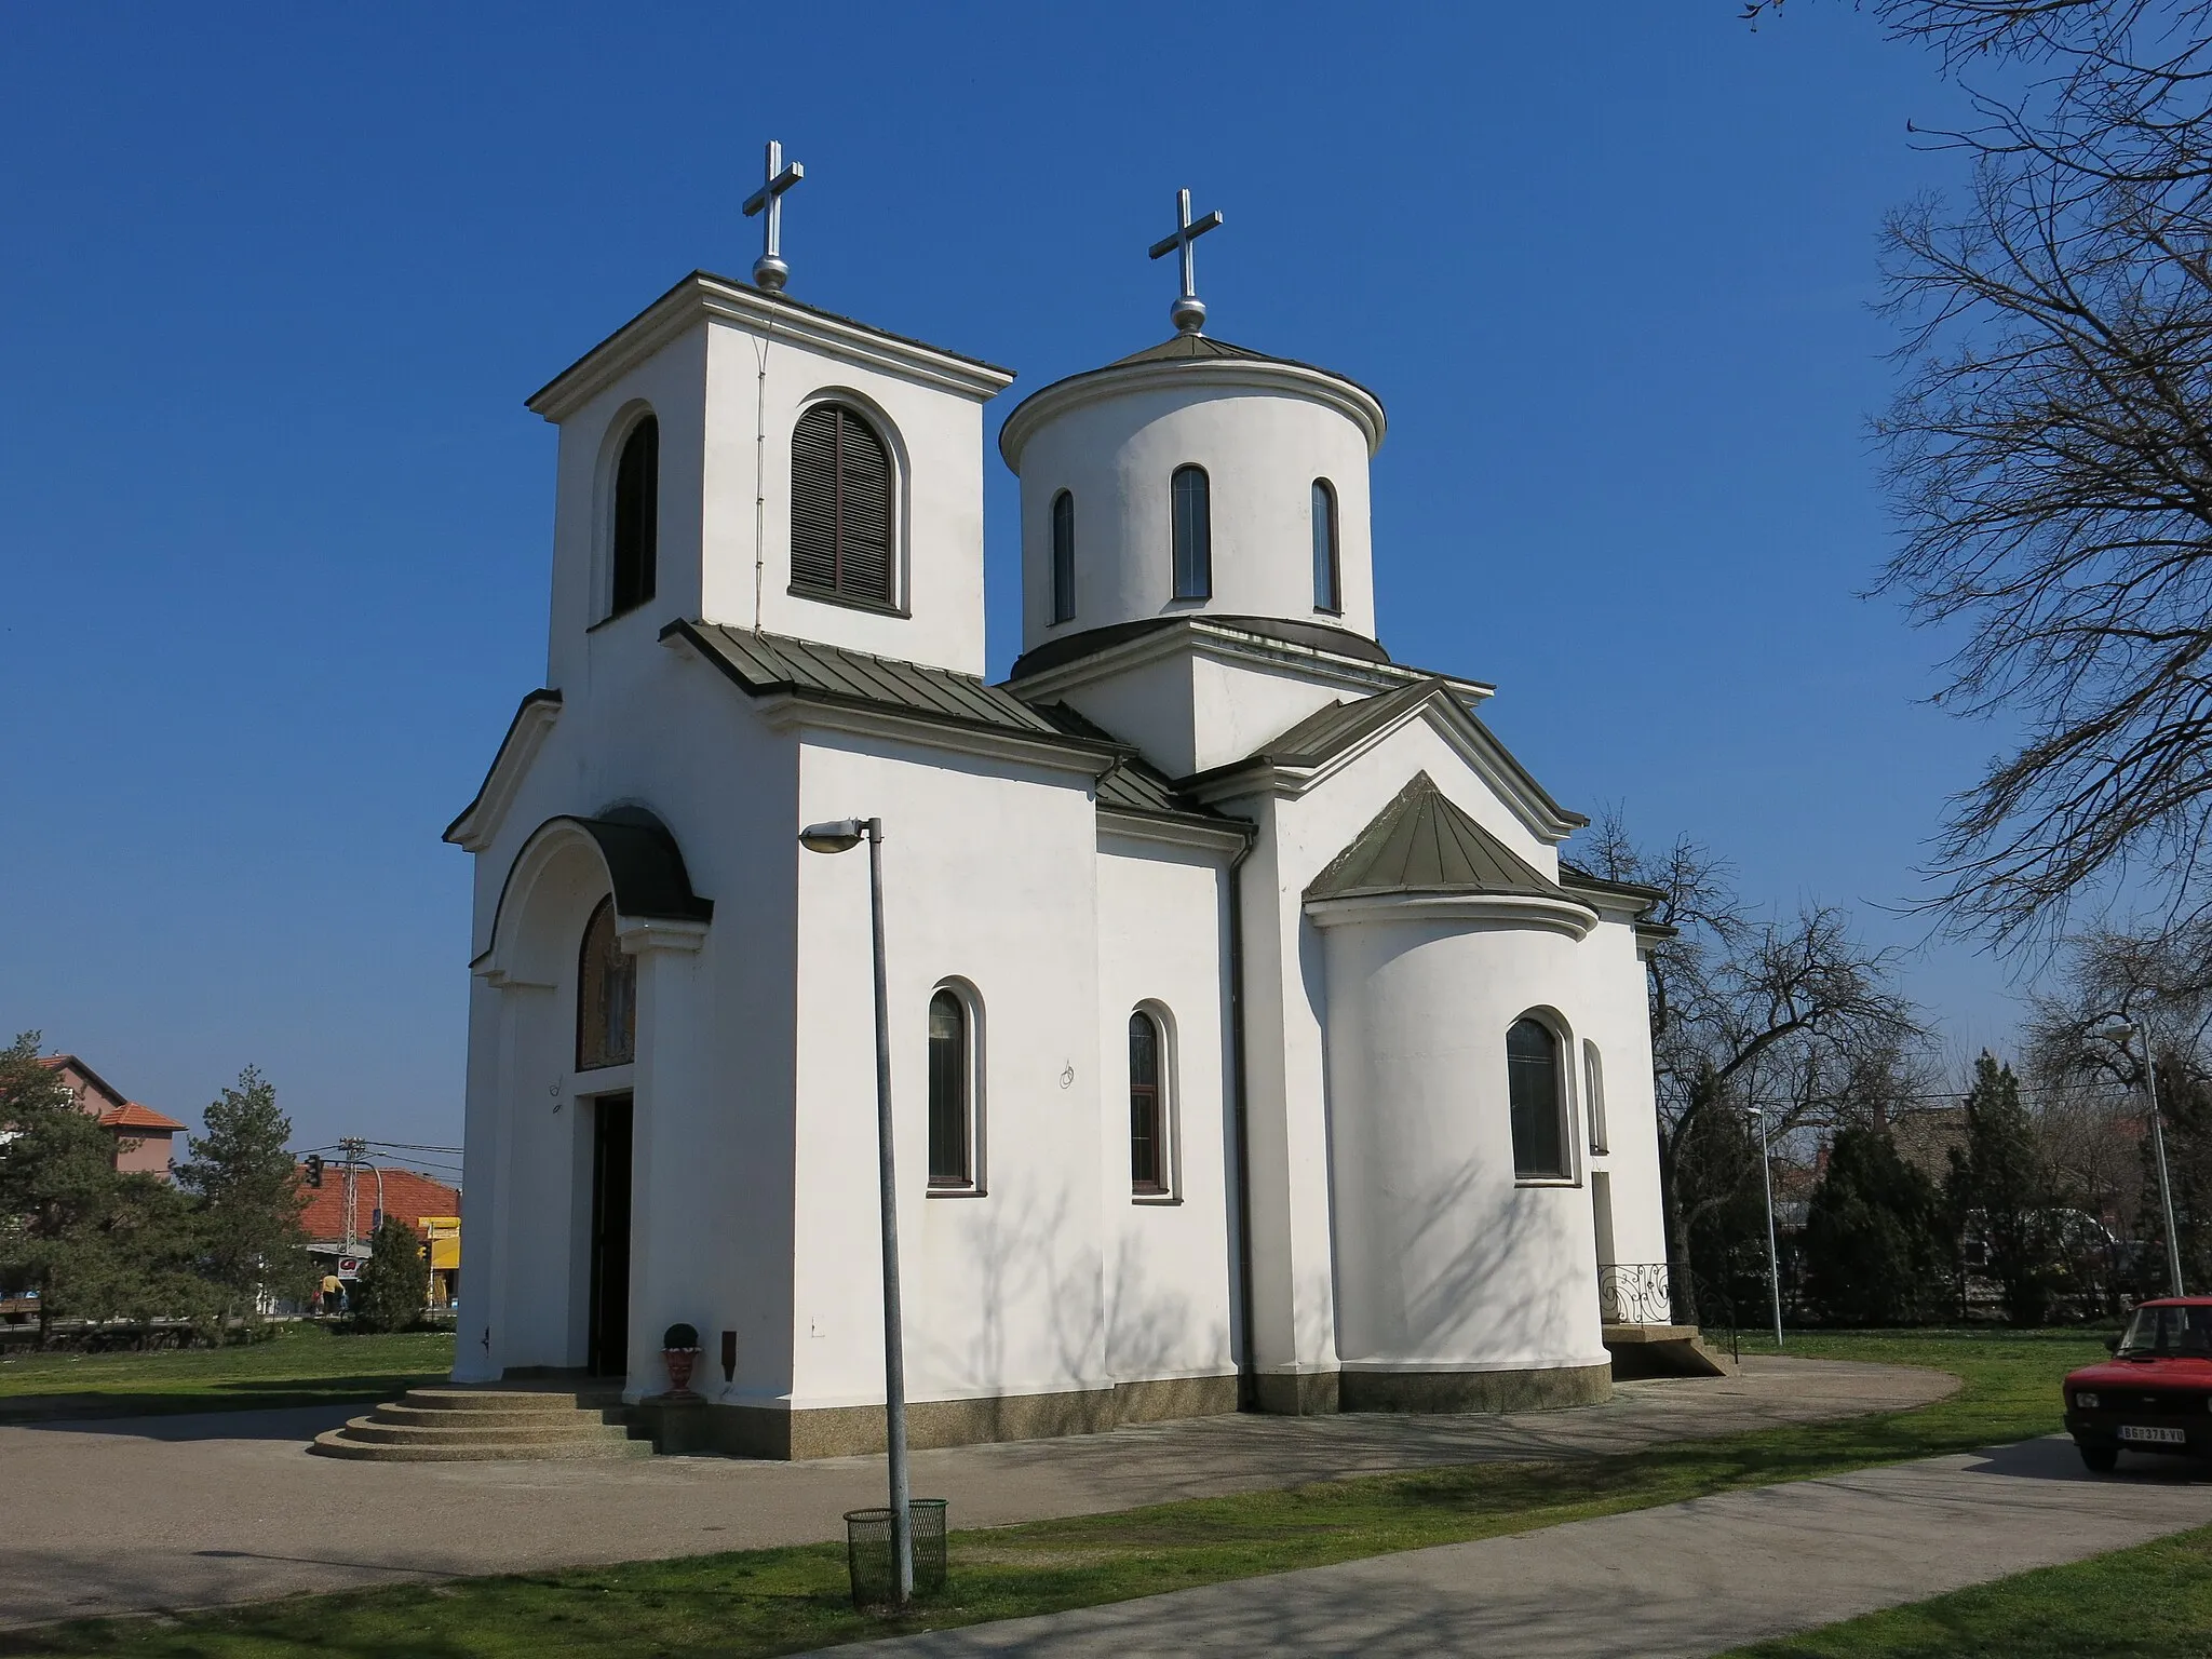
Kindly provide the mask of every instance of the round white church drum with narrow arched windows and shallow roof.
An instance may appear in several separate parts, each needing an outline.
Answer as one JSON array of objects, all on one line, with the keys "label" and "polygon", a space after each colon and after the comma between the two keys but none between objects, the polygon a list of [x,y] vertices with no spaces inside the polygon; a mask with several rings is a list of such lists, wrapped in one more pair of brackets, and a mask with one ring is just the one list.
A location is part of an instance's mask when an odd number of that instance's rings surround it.
[{"label": "round white church drum with narrow arched windows and shallow roof", "polygon": [[1024,659],[1175,617],[1383,655],[1383,427],[1356,380],[1197,332],[1031,394],[998,440],[1022,480]]}]

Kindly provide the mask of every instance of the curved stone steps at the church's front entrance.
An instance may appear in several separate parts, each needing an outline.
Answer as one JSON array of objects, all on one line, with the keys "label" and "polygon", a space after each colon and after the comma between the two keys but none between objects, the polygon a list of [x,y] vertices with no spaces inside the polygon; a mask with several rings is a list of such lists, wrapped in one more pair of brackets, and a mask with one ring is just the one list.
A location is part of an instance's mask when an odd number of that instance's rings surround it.
[{"label": "curved stone steps at the church's front entrance", "polygon": [[650,1458],[608,1389],[407,1389],[405,1398],[319,1433],[307,1451],[363,1462],[518,1462]]}]

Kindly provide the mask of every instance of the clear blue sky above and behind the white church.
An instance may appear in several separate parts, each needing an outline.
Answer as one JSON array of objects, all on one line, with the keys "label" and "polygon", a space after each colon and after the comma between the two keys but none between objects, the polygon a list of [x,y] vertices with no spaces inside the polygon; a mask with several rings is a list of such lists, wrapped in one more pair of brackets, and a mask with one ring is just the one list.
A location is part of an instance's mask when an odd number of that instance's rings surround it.
[{"label": "clear blue sky above and behind the white church", "polygon": [[[1104,13],[1106,9],[1091,9]],[[1860,907],[1958,1046],[2017,987],[1924,949],[2004,734],[1856,597],[1889,546],[1874,237],[1955,111],[1843,4],[0,11],[0,1026],[197,1121],[458,1141],[467,856],[544,670],[522,398],[692,268],[1022,372],[1168,332],[1177,186],[1223,338],[1374,387],[1380,628],[1491,679],[1571,805],[1745,894]],[[1013,478],[987,493],[991,659]]]}]

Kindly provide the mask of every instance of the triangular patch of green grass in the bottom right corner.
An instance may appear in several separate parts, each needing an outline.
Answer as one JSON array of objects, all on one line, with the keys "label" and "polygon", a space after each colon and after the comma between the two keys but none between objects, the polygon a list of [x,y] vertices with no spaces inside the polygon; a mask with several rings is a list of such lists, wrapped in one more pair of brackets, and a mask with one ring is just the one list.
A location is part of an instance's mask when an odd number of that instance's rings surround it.
[{"label": "triangular patch of green grass in the bottom right corner", "polygon": [[2212,1652],[2212,1526],[1869,1613],[1730,1659],[2172,1659]]}]

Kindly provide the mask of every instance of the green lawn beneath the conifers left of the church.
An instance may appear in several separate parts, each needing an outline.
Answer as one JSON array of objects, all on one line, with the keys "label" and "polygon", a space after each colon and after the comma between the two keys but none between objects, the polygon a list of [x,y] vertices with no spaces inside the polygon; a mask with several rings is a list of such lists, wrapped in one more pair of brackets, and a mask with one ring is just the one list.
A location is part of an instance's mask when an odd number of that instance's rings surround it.
[{"label": "green lawn beneath the conifers left of the church", "polygon": [[237,1347],[20,1354],[0,1358],[0,1422],[385,1400],[451,1369],[449,1334],[341,1336],[305,1323]]}]

